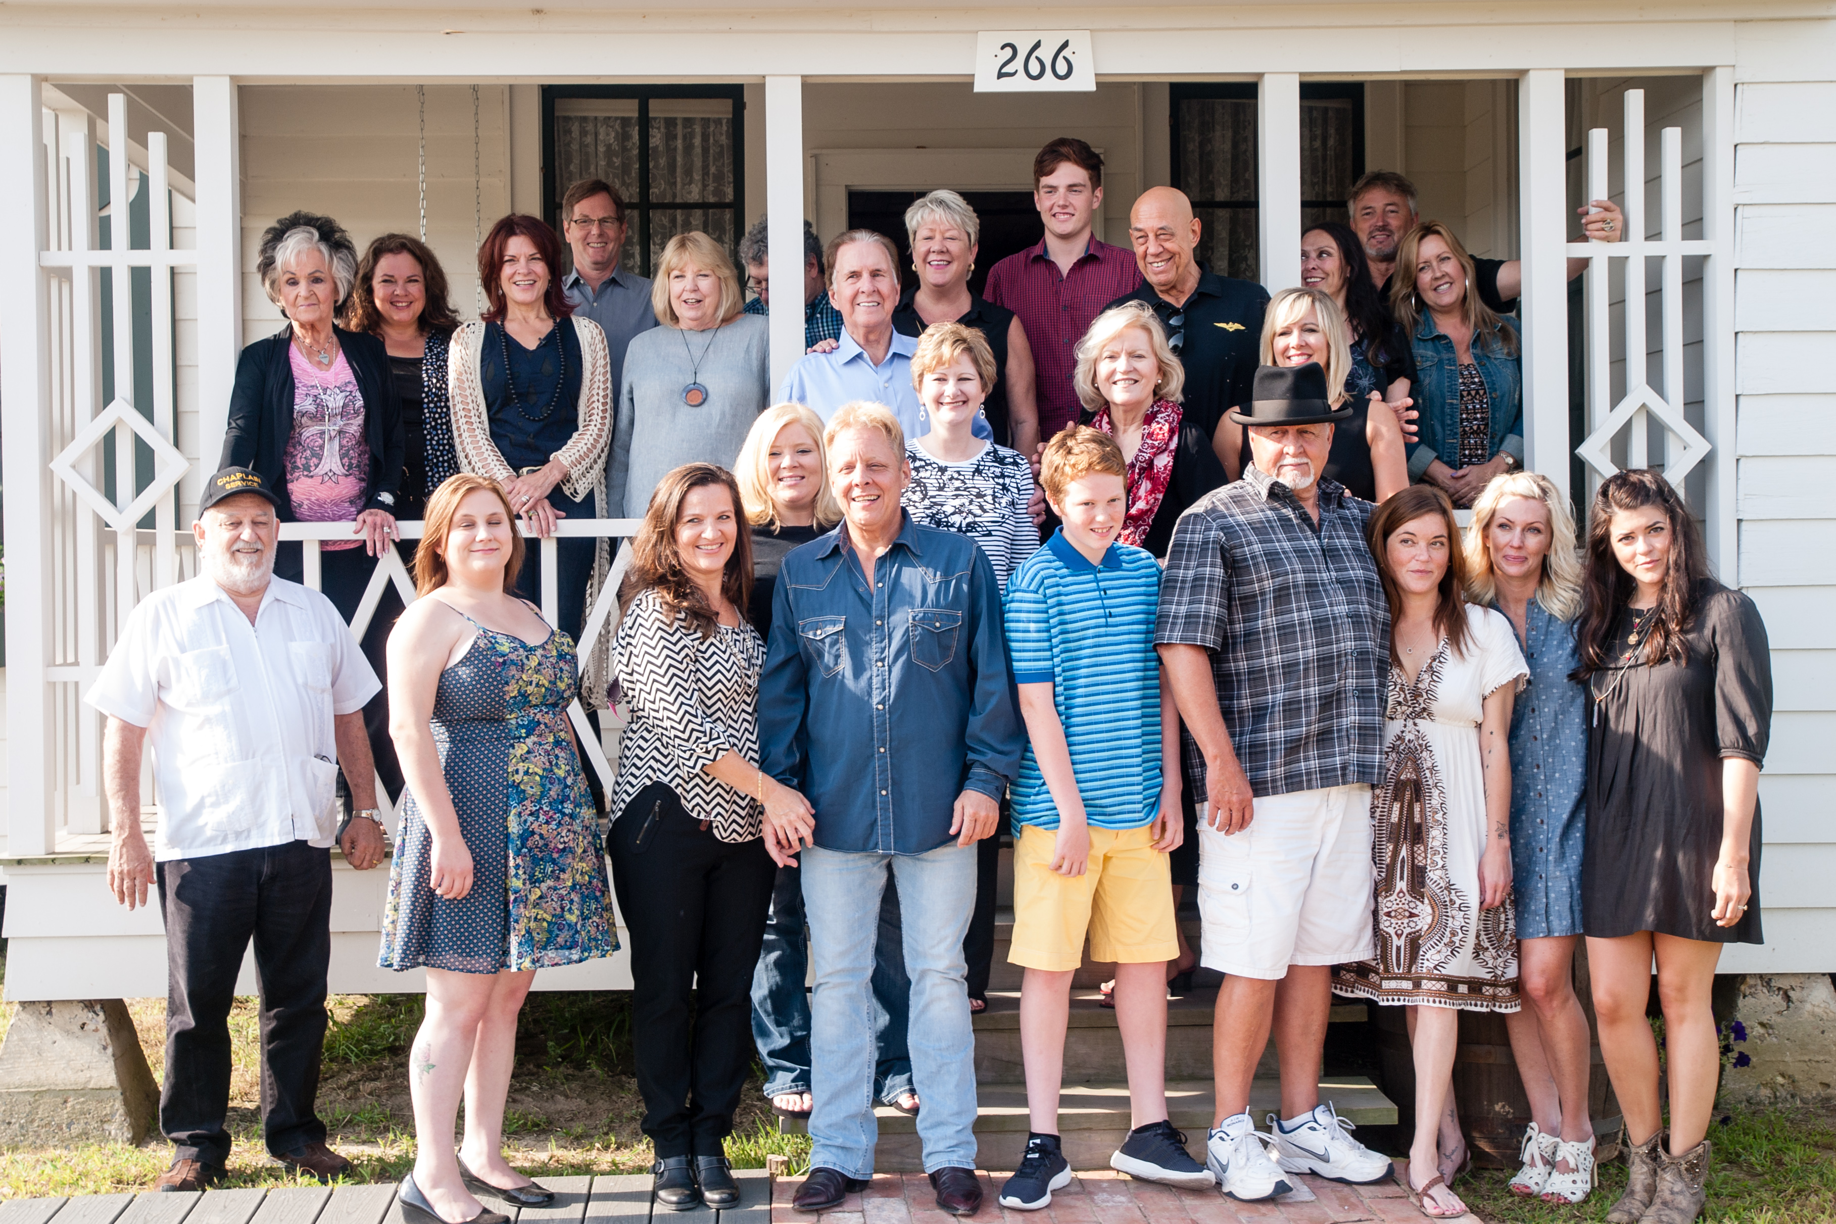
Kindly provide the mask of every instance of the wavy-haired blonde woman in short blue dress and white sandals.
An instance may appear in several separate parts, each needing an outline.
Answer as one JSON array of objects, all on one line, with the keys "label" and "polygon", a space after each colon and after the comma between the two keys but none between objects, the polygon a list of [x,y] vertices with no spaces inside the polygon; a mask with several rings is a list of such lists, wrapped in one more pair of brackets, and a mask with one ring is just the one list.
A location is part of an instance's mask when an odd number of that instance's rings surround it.
[{"label": "wavy-haired blonde woman in short blue dress and white sandals", "polygon": [[1533,1121],[1518,1195],[1581,1202],[1594,1187],[1588,1018],[1575,996],[1586,831],[1586,697],[1579,662],[1581,562],[1568,499],[1548,477],[1493,479],[1467,525],[1469,598],[1502,611],[1529,664],[1511,714],[1511,888],[1518,976],[1529,1004],[1506,1017]]}]

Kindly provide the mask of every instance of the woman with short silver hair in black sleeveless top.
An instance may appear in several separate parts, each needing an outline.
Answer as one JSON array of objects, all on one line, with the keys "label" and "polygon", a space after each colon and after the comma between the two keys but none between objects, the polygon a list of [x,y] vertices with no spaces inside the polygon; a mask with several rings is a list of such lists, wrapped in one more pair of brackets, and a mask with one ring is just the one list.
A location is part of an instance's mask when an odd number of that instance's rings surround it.
[{"label": "woman with short silver hair in black sleeveless top", "polygon": [[982,228],[975,209],[955,191],[933,191],[905,209],[918,286],[900,295],[892,328],[918,336],[933,323],[973,327],[995,354],[995,385],[982,404],[1001,446],[1032,455],[1039,437],[1032,349],[1019,316],[969,292]]}]

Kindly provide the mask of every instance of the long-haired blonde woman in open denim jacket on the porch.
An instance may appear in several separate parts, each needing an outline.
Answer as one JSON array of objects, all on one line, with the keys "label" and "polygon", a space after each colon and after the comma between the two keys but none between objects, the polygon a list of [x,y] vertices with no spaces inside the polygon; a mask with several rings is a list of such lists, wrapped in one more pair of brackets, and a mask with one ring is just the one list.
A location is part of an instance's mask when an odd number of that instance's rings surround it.
[{"label": "long-haired blonde woman in open denim jacket on the porch", "polygon": [[1472,257],[1452,229],[1428,220],[1403,239],[1390,308],[1410,338],[1421,439],[1410,481],[1471,506],[1495,477],[1524,466],[1524,371],[1517,321],[1472,292]]}]

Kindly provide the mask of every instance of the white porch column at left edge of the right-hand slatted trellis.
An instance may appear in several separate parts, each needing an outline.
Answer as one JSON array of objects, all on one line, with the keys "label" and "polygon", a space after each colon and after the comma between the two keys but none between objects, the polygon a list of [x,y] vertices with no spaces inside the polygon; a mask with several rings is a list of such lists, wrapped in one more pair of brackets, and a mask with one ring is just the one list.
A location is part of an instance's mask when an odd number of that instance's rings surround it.
[{"label": "white porch column at left edge of the right-hand slatted trellis", "polygon": [[[1518,217],[1524,259],[1524,466],[1568,492],[1568,196],[1561,68],[1518,81]],[[1592,273],[1590,273],[1592,275]]]}]

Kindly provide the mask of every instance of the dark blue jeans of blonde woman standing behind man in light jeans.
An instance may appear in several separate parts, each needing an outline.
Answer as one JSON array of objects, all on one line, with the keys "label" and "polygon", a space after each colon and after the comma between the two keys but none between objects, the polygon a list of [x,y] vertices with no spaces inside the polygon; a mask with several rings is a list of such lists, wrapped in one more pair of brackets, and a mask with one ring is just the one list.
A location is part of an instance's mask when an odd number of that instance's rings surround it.
[{"label": "dark blue jeans of blonde woman standing behind man in light jeans", "polygon": [[[766,945],[753,971],[753,1042],[766,1068],[766,1096],[810,1092],[810,945],[804,940],[802,872],[780,866],[766,919]],[[887,888],[879,903],[879,941],[874,956],[874,1099],[894,1101],[912,1090],[912,1059],[905,1050],[905,1013],[911,978],[900,947],[900,892]]]}]

